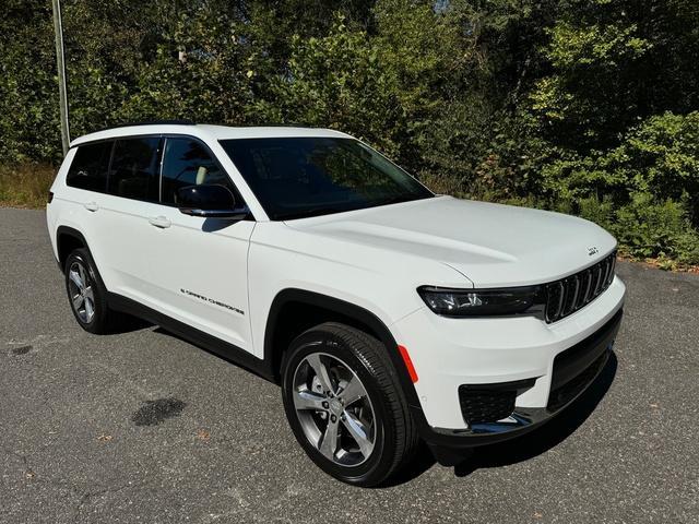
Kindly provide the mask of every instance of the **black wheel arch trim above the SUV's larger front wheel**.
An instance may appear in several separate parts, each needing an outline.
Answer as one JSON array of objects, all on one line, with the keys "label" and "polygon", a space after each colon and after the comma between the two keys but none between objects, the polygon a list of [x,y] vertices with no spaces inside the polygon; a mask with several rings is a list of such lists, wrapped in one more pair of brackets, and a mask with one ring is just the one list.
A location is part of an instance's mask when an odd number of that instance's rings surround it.
[{"label": "black wheel arch trim above the SUV's larger front wheel", "polygon": [[304,331],[328,321],[352,325],[381,341],[407,404],[419,407],[415,386],[398,350],[398,342],[381,319],[355,303],[306,289],[283,289],[277,293],[270,307],[264,330],[264,359],[277,382],[288,344]]}]

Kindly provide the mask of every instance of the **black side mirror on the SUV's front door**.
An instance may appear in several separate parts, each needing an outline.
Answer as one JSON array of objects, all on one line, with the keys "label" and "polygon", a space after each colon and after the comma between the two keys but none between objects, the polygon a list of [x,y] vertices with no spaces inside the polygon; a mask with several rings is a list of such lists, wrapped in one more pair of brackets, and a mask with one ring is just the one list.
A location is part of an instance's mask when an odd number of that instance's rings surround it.
[{"label": "black side mirror on the SUV's front door", "polygon": [[177,205],[186,215],[203,218],[241,221],[250,211],[236,209],[236,199],[228,188],[218,184],[186,186],[177,190]]}]

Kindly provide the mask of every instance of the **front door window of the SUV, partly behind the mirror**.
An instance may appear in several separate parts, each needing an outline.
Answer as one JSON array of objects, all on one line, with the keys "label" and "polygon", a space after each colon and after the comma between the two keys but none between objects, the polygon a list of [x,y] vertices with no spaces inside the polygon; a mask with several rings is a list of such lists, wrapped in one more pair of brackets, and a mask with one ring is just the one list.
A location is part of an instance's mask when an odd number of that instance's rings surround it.
[{"label": "front door window of the SUV, partly behind the mirror", "polygon": [[177,190],[186,186],[217,183],[236,198],[228,175],[200,142],[191,139],[167,139],[163,156],[163,203],[176,204]]}]

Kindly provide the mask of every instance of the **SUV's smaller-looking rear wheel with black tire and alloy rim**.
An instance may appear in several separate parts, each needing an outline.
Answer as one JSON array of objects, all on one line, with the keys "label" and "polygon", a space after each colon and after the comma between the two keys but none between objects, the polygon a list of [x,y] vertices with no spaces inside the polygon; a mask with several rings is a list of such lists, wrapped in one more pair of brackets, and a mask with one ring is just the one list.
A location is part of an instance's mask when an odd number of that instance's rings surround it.
[{"label": "SUV's smaller-looking rear wheel with black tire and alloy rim", "polygon": [[71,311],[80,326],[97,335],[110,333],[117,314],[107,306],[107,289],[90,251],[85,248],[72,251],[66,259],[63,274]]}]

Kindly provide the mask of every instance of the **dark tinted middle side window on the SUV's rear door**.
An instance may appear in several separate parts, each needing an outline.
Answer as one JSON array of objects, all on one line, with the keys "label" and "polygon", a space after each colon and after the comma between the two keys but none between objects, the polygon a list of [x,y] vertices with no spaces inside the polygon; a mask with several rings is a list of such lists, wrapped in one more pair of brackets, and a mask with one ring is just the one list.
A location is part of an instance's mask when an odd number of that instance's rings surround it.
[{"label": "dark tinted middle side window on the SUV's rear door", "polygon": [[158,138],[117,140],[111,157],[108,192],[116,196],[157,202],[159,143]]}]

